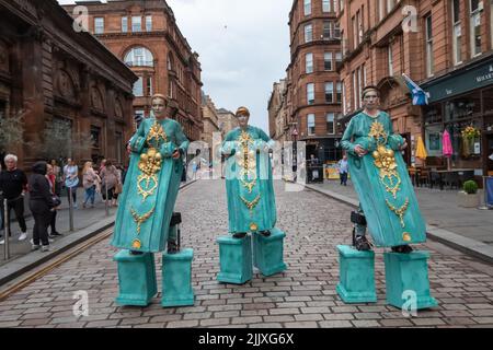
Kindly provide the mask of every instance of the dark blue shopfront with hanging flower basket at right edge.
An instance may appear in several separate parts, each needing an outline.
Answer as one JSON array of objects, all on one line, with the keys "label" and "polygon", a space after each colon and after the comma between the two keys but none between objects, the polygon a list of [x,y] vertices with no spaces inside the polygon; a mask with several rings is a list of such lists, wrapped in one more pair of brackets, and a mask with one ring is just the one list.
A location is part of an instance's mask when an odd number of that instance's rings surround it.
[{"label": "dark blue shopfront with hanging flower basket at right edge", "polygon": [[[477,180],[493,172],[493,56],[422,85],[429,93],[423,107],[428,166],[473,170]],[[443,156],[443,136],[452,154]]]}]

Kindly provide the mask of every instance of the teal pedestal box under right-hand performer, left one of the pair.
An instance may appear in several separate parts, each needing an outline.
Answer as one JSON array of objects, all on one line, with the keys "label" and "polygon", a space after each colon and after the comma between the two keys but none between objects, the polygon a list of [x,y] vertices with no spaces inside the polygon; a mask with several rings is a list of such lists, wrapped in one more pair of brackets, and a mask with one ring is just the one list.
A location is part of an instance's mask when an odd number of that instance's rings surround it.
[{"label": "teal pedestal box under right-hand performer, left one of the pair", "polygon": [[375,303],[375,253],[359,252],[348,245],[337,245],[340,282],[339,296],[345,303]]}]

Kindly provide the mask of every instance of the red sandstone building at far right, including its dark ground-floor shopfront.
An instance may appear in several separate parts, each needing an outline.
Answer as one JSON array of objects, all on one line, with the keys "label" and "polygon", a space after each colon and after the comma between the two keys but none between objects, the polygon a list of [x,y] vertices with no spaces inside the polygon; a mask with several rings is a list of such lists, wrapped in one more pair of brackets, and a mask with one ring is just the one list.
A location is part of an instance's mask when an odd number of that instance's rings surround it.
[{"label": "red sandstone building at far right, including its dark ground-floor shopfront", "polygon": [[[493,171],[493,0],[341,1],[344,122],[362,108],[367,84],[381,90],[382,108],[410,148],[422,136],[426,165],[440,166],[442,136],[451,135],[452,167]],[[415,14],[415,16],[413,16]],[[413,106],[402,84],[405,73],[429,93],[428,106]],[[462,130],[480,136],[467,140]]]}]

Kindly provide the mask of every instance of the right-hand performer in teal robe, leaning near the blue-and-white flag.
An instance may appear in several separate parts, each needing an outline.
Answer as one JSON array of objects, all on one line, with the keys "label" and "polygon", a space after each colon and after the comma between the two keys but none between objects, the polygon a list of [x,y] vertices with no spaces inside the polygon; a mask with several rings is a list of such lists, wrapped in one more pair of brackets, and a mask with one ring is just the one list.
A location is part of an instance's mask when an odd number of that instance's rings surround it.
[{"label": "right-hand performer in teal robe, leaning near the blue-and-white flag", "polygon": [[371,248],[365,236],[368,226],[377,246],[411,253],[410,244],[426,241],[426,224],[401,155],[408,144],[393,133],[390,116],[378,109],[378,89],[365,88],[362,97],[364,110],[351,119],[341,142],[360,201],[352,213],[353,245]]}]

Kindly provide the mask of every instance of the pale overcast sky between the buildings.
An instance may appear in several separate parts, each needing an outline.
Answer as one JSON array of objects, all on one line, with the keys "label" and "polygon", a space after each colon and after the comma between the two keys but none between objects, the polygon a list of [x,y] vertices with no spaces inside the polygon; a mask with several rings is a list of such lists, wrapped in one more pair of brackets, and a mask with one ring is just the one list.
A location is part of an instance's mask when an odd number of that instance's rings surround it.
[{"label": "pale overcast sky between the buildings", "polygon": [[[58,2],[73,3],[70,0]],[[251,124],[268,130],[273,83],[289,62],[291,0],[167,0],[202,63],[204,91],[217,108],[250,108]]]}]

